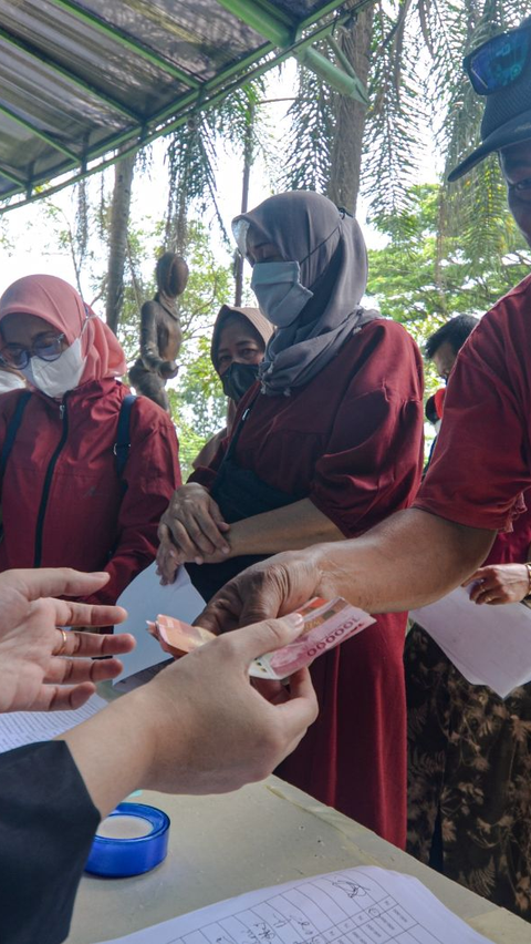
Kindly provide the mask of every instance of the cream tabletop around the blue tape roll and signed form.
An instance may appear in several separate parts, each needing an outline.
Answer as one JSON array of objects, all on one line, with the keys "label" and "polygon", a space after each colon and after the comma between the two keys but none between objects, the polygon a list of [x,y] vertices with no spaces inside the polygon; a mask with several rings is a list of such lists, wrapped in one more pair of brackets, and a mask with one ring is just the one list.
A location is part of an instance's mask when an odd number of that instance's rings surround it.
[{"label": "cream tabletop around the blue tape roll and signed form", "polygon": [[416,875],[496,944],[531,944],[531,924],[275,777],[225,796],[143,791],[134,801],[170,817],[168,856],[135,879],[85,875],[67,944],[121,937],[242,892],[354,865]]}]

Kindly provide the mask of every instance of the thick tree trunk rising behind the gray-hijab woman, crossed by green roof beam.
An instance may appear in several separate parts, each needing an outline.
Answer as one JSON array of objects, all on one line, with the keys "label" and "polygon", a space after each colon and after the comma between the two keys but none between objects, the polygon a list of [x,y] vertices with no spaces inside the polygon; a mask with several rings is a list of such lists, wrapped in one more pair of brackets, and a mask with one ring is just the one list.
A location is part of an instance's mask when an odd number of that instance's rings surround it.
[{"label": "thick tree trunk rising behind the gray-hijab woman, crossed by green roof beam", "polygon": [[[353,6],[347,3],[346,7]],[[340,45],[361,82],[366,85],[373,31],[373,7],[361,10],[354,25],[343,30]],[[335,133],[326,196],[350,213],[356,212],[360,192],[363,133],[366,106],[354,99],[335,94]]]}]

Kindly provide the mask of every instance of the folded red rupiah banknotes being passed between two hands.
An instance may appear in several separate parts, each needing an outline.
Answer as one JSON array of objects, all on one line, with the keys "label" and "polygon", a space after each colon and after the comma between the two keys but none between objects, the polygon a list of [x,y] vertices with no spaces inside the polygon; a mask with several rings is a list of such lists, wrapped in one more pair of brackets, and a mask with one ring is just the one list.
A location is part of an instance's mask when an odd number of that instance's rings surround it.
[{"label": "folded red rupiah banknotes being passed between two hands", "polygon": [[[254,659],[249,675],[277,680],[289,678],[298,669],[310,665],[375,622],[368,613],[352,606],[340,596],[333,599],[313,597],[296,612],[304,619],[301,635],[288,646]],[[159,615],[154,623],[147,624],[147,628],[158,639],[164,651],[176,658],[216,638],[208,629],[190,626],[174,616]]]}]

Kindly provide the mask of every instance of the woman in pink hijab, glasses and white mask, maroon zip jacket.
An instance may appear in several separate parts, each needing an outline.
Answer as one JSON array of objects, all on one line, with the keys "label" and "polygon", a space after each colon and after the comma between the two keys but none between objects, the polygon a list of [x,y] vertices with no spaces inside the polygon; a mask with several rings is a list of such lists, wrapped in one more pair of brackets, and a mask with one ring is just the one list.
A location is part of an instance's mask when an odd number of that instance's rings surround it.
[{"label": "woman in pink hijab, glasses and white mask, maroon zip jacket", "polygon": [[124,352],[55,276],[27,276],[2,295],[0,359],[31,391],[0,400],[0,571],[106,571],[91,602],[115,603],[154,560],[158,521],[180,484],[171,421],[150,400],[135,400],[121,473]]}]

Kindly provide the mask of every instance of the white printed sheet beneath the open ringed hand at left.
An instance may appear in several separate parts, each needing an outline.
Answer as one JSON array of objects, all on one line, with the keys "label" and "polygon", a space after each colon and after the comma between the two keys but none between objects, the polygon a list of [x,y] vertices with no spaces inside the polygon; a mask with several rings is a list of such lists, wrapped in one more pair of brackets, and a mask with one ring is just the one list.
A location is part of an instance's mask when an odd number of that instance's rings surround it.
[{"label": "white printed sheet beneath the open ringed hand at left", "polygon": [[103,698],[93,695],[75,711],[13,711],[0,715],[0,753],[34,741],[50,741],[92,718],[106,705]]}]

